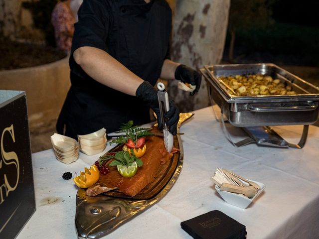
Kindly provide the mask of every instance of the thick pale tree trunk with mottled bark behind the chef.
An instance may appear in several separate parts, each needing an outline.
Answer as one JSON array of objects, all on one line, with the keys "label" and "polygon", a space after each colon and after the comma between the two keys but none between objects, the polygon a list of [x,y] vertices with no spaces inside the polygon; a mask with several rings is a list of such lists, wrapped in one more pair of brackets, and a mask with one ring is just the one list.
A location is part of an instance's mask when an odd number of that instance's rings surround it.
[{"label": "thick pale tree trunk with mottled bark behind the chef", "polygon": [[[175,1],[171,59],[195,69],[218,64],[222,58],[230,0]],[[194,96],[177,89],[177,81],[168,82],[168,94],[180,112],[209,106],[207,85]]]}]

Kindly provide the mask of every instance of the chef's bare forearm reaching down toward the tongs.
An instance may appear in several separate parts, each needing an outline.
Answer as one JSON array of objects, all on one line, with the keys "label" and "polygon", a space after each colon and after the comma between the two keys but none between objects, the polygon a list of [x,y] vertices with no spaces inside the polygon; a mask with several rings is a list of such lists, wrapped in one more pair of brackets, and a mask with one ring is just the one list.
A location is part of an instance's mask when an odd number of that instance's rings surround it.
[{"label": "chef's bare forearm reaching down toward the tongs", "polygon": [[73,53],[74,60],[94,80],[110,88],[135,96],[143,80],[107,52],[95,47],[80,47]]}]

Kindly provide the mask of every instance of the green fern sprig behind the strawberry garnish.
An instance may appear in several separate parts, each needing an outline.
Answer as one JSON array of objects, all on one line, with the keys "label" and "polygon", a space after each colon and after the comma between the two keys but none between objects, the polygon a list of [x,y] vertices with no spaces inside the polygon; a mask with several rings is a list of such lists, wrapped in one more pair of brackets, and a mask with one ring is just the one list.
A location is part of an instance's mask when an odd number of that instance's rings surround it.
[{"label": "green fern sprig behind the strawberry garnish", "polygon": [[119,136],[116,139],[113,139],[110,144],[112,143],[127,143],[128,139],[132,139],[134,143],[138,140],[138,138],[145,137],[145,136],[153,136],[150,130],[152,128],[145,128],[141,127],[140,125],[133,126],[133,120],[128,121],[127,123],[122,124],[120,130],[116,133],[125,133],[126,136]]}]

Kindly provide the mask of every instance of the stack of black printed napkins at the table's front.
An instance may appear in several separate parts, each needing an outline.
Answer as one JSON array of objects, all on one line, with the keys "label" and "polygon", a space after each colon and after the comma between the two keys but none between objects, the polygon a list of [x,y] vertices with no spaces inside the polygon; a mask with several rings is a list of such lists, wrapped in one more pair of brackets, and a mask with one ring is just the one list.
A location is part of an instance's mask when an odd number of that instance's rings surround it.
[{"label": "stack of black printed napkins at the table's front", "polygon": [[194,239],[245,239],[246,227],[214,210],[181,222],[181,228]]}]

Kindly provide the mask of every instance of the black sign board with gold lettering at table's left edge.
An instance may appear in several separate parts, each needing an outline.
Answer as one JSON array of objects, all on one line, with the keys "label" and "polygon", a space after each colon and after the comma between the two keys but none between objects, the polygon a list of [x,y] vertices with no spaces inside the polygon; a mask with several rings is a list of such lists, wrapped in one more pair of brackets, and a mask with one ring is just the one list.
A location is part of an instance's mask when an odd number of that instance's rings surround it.
[{"label": "black sign board with gold lettering at table's left edge", "polygon": [[25,94],[0,108],[0,238],[13,239],[35,211]]}]

